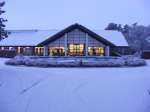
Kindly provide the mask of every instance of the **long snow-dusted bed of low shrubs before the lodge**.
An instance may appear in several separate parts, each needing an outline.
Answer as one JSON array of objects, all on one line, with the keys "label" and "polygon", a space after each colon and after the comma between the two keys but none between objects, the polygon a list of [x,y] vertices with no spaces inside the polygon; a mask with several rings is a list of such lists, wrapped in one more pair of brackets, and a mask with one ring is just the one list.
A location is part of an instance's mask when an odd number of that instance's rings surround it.
[{"label": "long snow-dusted bed of low shrubs before the lodge", "polygon": [[144,66],[145,60],[132,57],[103,57],[103,58],[34,58],[16,56],[8,60],[7,65],[26,65],[37,67],[124,67]]}]

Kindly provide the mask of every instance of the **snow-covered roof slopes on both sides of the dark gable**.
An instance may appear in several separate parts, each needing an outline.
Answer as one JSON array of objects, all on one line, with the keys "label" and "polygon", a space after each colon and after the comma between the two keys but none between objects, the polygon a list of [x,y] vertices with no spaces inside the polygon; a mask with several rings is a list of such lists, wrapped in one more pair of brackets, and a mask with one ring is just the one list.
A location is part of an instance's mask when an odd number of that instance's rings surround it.
[{"label": "snow-covered roof slopes on both sides of the dark gable", "polygon": [[[11,30],[8,38],[0,42],[0,46],[36,46],[55,35],[59,30]],[[117,31],[93,30],[116,46],[128,46],[125,37]]]}]

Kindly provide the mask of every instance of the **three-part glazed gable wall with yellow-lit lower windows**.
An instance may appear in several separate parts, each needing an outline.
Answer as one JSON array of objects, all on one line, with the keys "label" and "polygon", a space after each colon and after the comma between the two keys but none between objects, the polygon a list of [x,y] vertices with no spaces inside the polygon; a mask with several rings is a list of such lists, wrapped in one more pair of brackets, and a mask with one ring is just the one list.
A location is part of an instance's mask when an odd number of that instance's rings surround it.
[{"label": "three-part glazed gable wall with yellow-lit lower windows", "polygon": [[[66,54],[68,56],[85,56],[87,53],[90,56],[103,56],[105,48],[104,44],[90,35],[88,36],[88,39],[86,39],[86,33],[80,29],[67,32],[67,40],[65,35],[63,35],[48,46],[50,56],[64,56],[65,46],[67,46]],[[87,53],[86,46],[88,48]]]}]

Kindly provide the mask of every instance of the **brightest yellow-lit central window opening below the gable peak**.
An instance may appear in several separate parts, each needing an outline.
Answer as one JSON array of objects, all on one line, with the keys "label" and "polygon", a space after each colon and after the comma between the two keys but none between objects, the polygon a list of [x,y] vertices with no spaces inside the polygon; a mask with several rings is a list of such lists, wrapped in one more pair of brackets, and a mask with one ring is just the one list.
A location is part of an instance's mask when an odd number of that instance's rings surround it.
[{"label": "brightest yellow-lit central window opening below the gable peak", "polygon": [[84,56],[84,44],[69,44],[69,56]]}]

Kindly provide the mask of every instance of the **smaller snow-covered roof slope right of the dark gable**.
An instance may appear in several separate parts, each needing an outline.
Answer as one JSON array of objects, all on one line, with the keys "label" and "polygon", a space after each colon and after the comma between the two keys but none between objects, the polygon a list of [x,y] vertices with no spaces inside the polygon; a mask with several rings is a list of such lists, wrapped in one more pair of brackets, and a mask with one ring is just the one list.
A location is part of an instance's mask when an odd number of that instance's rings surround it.
[{"label": "smaller snow-covered roof slope right of the dark gable", "polygon": [[94,30],[94,32],[116,46],[128,46],[127,40],[121,32],[111,30]]}]

